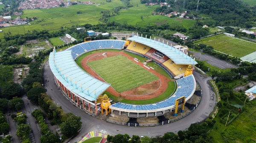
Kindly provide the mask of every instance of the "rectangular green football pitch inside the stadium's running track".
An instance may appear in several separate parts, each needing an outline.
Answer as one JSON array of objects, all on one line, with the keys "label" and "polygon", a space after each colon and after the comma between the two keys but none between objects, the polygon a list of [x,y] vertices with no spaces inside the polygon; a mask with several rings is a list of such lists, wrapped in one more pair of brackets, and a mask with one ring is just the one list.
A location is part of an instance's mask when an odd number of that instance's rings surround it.
[{"label": "rectangular green football pitch inside the stadium's running track", "polygon": [[158,79],[157,76],[122,55],[87,64],[119,93]]}]

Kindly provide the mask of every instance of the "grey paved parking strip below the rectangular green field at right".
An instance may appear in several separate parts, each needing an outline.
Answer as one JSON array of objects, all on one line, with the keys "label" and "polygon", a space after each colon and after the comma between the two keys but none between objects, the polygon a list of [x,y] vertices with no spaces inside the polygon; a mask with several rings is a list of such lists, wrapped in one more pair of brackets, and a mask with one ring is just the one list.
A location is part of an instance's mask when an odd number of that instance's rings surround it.
[{"label": "grey paved parking strip below the rectangular green field at right", "polygon": [[211,64],[221,69],[238,67],[235,64],[231,64],[229,62],[215,58],[214,56],[210,56],[208,54],[201,54],[201,52],[192,52],[192,51],[189,51],[189,52],[194,53],[196,58],[200,58],[202,61],[206,61],[208,64]]}]

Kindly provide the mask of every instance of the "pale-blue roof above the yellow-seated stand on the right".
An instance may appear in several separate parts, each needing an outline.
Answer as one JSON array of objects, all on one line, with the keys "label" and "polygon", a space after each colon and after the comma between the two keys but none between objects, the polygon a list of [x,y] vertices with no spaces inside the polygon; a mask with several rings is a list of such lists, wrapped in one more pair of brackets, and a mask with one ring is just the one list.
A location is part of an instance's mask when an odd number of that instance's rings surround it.
[{"label": "pale-blue roof above the yellow-seated stand on the right", "polygon": [[166,45],[164,43],[144,38],[141,36],[133,36],[128,38],[128,40],[139,42],[143,45],[147,45],[151,48],[160,51],[161,53],[165,54],[170,59],[172,59],[172,61],[175,62],[175,64],[198,64],[197,62],[195,62],[194,59],[187,56],[185,53],[180,52],[180,50],[177,50],[176,48],[173,48],[172,46]]}]

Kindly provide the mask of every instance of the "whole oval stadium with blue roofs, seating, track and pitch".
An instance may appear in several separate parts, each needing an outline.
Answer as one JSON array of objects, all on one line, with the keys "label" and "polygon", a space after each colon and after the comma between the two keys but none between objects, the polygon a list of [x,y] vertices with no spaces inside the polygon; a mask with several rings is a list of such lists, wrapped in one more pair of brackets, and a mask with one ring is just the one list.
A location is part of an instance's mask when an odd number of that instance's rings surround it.
[{"label": "whole oval stadium with blue roofs, seating, track and pitch", "polygon": [[[103,51],[106,49],[114,51]],[[184,104],[196,89],[192,72],[197,62],[187,55],[187,50],[133,34],[126,41],[96,40],[64,51],[56,52],[54,49],[49,56],[49,66],[61,92],[91,115],[98,115],[104,110],[106,115],[115,112],[135,118],[160,116],[172,111],[177,115],[178,109],[183,112]],[[76,60],[92,51],[95,53],[81,61],[83,69],[79,67]],[[133,58],[124,51],[144,57],[146,61]],[[172,79],[157,73],[154,69],[157,67],[150,67],[147,62],[156,63]],[[150,104],[132,103],[160,96],[168,90],[170,81],[173,81],[175,89],[163,100]],[[138,91],[141,88],[144,90]],[[106,92],[130,102],[112,102],[108,95],[104,95]]]}]

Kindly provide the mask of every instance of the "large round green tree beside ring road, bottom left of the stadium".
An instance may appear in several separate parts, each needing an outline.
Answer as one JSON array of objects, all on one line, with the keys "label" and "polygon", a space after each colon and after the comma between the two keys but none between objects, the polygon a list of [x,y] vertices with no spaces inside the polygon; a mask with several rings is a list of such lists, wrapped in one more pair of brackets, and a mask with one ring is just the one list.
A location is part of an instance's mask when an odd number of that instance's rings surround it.
[{"label": "large round green tree beside ring road, bottom left of the stadium", "polygon": [[61,124],[61,132],[67,137],[72,137],[76,135],[79,129],[81,129],[82,122],[80,121],[81,117],[71,116],[67,118],[67,121]]}]

